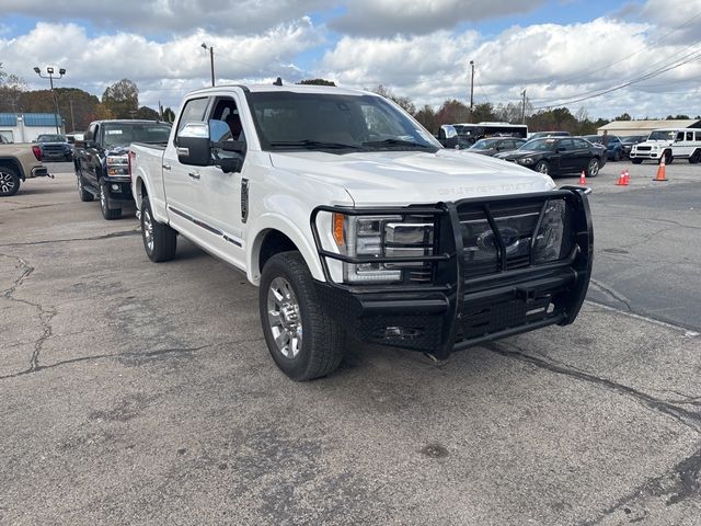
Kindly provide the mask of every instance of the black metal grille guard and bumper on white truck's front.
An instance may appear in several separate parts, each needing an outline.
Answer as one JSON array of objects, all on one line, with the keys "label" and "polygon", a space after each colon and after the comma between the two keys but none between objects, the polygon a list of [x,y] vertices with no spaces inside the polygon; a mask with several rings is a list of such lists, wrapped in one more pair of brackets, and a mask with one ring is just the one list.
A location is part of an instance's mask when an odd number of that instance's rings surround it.
[{"label": "black metal grille guard and bumper on white truck's front", "polygon": [[[585,188],[496,197],[468,198],[436,206],[346,208],[319,206],[311,229],[325,283],[314,282],[324,311],[363,342],[423,351],[438,359],[452,351],[519,334],[547,325],[572,323],[584,301],[591,275],[593,228]],[[535,243],[550,202],[566,206],[565,236],[571,250],[564,258],[537,263]],[[540,210],[530,233],[529,254],[508,258],[504,235],[493,210],[519,207]],[[433,255],[346,256],[323,249],[317,228],[319,213],[348,216],[422,216],[434,219]],[[480,215],[494,232],[493,268],[475,268],[463,250],[461,218]],[[346,263],[424,263],[428,283],[355,285],[334,283],[327,259]],[[517,264],[516,264],[517,263]]]}]

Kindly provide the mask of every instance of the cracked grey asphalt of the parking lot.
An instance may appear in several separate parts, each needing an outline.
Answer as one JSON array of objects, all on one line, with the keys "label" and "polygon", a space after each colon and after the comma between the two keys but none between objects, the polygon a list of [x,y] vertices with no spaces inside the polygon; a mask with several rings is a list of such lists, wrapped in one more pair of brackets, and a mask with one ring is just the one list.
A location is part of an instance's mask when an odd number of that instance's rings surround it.
[{"label": "cracked grey asphalt of the parking lot", "polygon": [[150,263],[71,168],[0,199],[0,524],[701,525],[701,165],[590,181],[573,325],[310,384],[242,274]]}]

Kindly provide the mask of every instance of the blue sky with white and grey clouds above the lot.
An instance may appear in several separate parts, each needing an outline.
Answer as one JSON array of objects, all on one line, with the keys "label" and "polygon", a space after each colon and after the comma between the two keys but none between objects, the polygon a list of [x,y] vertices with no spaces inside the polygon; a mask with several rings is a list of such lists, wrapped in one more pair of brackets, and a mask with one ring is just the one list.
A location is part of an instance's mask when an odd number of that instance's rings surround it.
[{"label": "blue sky with white and grey clouds above the lot", "polygon": [[[701,0],[54,3],[0,0],[0,60],[32,89],[44,88],[32,67],[53,65],[68,70],[61,85],[101,96],[129,78],[142,104],[176,106],[208,83],[206,42],[218,83],[322,77],[348,88],[382,84],[437,106],[466,100],[473,59],[476,102],[516,103],[525,89],[535,107],[567,105],[593,117],[701,113]],[[656,62],[671,69],[571,102],[654,72]]]}]

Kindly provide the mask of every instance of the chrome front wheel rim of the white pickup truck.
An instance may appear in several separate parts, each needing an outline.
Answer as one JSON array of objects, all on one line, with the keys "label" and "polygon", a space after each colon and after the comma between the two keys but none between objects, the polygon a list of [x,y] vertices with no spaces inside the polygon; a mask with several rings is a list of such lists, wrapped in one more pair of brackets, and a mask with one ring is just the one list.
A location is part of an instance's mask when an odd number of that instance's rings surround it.
[{"label": "chrome front wheel rim of the white pickup truck", "polygon": [[291,285],[276,277],[267,290],[267,320],[275,345],[286,358],[295,358],[302,348],[302,318]]}]

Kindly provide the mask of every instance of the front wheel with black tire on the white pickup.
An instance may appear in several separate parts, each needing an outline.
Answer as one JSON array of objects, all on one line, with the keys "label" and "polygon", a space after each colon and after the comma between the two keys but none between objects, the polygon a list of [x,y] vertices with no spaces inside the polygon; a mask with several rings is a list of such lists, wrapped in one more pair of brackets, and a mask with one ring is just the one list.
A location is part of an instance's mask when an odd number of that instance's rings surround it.
[{"label": "front wheel with black tire on the white pickup", "polygon": [[[311,273],[299,252],[275,254],[265,263],[258,305],[267,348],[289,378],[313,380],[338,367],[345,332],[321,310]],[[276,343],[274,330],[279,331],[281,345]]]}]

